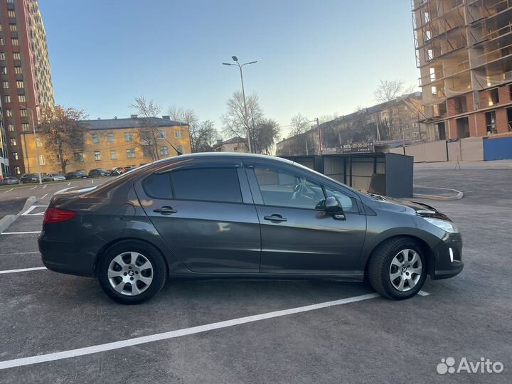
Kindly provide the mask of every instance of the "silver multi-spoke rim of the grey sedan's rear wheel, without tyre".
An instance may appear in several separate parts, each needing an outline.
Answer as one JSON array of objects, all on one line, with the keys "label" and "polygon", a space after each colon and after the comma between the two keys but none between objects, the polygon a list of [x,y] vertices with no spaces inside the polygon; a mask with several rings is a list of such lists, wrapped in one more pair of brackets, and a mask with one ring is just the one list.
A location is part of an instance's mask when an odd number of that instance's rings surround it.
[{"label": "silver multi-spoke rim of the grey sedan's rear wheel, without tyre", "polygon": [[153,281],[153,265],[139,252],[123,252],[112,259],[107,277],[112,288],[126,296],[137,296]]}]

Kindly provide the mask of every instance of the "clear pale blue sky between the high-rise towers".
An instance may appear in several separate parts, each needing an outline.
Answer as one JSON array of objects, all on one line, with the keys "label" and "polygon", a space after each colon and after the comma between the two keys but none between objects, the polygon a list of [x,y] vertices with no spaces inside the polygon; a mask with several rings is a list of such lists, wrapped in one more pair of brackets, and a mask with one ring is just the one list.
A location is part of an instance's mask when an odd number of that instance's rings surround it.
[{"label": "clear pale blue sky between the high-rise towers", "polygon": [[[222,130],[244,67],[266,117],[288,134],[309,119],[374,105],[380,80],[417,85],[410,0],[40,0],[55,102],[90,119],[192,108]],[[225,138],[226,139],[226,138]]]}]

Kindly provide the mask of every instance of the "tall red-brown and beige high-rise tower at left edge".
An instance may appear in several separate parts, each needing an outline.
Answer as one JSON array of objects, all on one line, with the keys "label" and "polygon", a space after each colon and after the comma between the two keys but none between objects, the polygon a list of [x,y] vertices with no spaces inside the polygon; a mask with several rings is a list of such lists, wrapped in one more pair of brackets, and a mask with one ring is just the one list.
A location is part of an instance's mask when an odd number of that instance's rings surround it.
[{"label": "tall red-brown and beige high-rise tower at left edge", "polygon": [[22,134],[53,105],[46,32],[37,0],[0,0],[0,97],[6,130],[6,174],[26,172]]}]

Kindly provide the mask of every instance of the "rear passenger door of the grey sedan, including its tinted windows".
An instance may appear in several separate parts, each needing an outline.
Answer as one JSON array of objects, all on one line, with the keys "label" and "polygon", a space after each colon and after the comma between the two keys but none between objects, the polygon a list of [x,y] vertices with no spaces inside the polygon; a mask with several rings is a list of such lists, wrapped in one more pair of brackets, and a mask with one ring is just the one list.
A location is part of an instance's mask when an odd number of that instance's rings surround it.
[{"label": "rear passenger door of the grey sedan, including its tinted windows", "polygon": [[177,161],[136,190],[156,230],[188,269],[258,272],[260,224],[240,159]]}]

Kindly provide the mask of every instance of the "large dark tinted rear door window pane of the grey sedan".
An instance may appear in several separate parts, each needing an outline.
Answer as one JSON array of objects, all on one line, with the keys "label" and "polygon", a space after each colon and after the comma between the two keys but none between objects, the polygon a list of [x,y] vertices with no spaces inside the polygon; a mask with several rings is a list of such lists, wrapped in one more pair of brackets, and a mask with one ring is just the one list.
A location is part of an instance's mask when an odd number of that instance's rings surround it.
[{"label": "large dark tinted rear door window pane of the grey sedan", "polygon": [[242,192],[235,167],[176,169],[169,174],[174,198],[242,203]]}]

